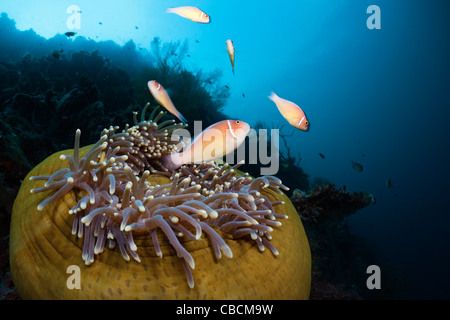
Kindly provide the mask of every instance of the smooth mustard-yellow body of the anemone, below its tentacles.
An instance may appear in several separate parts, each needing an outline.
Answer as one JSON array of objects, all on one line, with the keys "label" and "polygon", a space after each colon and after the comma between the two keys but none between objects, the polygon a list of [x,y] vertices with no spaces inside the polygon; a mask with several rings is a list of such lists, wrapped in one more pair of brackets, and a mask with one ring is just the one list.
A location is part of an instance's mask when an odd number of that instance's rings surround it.
[{"label": "smooth mustard-yellow body of the anemone, below its tentacles", "polygon": [[[84,156],[91,146],[81,149]],[[276,212],[289,216],[274,228],[271,243],[279,251],[260,252],[250,241],[233,239],[216,231],[233,252],[232,258],[217,259],[211,242],[181,239],[195,261],[194,288],[175,250],[160,237],[163,257],[156,256],[151,237],[136,235],[141,262],[125,261],[116,247],[95,256],[91,265],[81,258],[84,238],[72,235],[74,217],[68,211],[80,199],[74,191],[47,205],[37,205],[54,191],[31,194],[42,181],[29,177],[50,175],[66,167],[58,152],[36,166],[24,179],[13,207],[10,238],[11,273],[24,299],[308,299],[311,284],[311,253],[300,218],[286,195],[271,191],[271,201],[284,201]],[[150,175],[152,184],[168,184],[164,176]],[[69,288],[73,276],[69,266],[79,267],[80,289]]]}]

